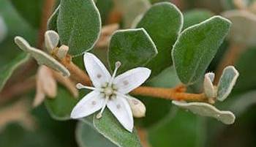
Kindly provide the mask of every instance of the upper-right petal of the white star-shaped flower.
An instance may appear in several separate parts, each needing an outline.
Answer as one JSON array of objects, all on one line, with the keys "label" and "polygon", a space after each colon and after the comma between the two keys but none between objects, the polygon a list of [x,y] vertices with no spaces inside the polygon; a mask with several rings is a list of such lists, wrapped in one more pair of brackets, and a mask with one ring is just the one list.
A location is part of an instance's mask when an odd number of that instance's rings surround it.
[{"label": "upper-right petal of the white star-shaped flower", "polygon": [[122,94],[128,94],[129,91],[140,86],[145,80],[148,79],[151,70],[145,67],[137,67],[135,69],[130,69],[121,75],[118,75],[113,83],[118,88],[118,92]]}]

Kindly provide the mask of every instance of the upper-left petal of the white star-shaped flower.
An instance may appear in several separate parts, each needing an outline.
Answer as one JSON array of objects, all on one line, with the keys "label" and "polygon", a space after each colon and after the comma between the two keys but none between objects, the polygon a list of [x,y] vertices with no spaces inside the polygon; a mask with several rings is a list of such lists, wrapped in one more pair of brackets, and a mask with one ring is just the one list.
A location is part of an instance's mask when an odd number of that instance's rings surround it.
[{"label": "upper-left petal of the white star-shaped flower", "polygon": [[110,73],[96,56],[91,53],[85,53],[83,56],[83,61],[86,71],[88,72],[89,77],[91,78],[91,81],[95,87],[101,87],[110,80]]}]

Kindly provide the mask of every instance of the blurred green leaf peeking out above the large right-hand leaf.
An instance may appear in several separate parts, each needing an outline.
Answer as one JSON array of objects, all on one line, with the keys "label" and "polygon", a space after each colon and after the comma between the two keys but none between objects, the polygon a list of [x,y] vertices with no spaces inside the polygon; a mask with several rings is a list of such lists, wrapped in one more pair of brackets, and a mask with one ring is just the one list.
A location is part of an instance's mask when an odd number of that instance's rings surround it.
[{"label": "blurred green leaf peeking out above the large right-hand leaf", "polygon": [[201,23],[208,18],[211,18],[214,13],[209,10],[196,9],[190,10],[184,13],[184,25],[183,29],[187,29],[189,26],[193,26],[197,23]]}]

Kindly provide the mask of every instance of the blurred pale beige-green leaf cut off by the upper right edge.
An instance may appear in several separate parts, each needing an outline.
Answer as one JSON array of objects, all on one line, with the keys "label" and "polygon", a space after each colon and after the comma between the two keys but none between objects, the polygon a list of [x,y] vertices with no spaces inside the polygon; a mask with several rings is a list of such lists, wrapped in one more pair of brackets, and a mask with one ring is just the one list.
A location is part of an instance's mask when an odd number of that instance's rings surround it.
[{"label": "blurred pale beige-green leaf cut off by the upper right edge", "polygon": [[232,22],[229,38],[243,45],[256,45],[256,15],[246,10],[230,10],[222,14]]}]

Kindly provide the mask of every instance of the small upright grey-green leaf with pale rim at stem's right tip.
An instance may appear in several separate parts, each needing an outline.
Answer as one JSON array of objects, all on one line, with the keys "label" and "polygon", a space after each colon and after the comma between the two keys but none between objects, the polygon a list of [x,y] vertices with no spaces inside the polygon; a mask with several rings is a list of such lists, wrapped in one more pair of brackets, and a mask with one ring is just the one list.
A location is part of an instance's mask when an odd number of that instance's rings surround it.
[{"label": "small upright grey-green leaf with pale rim at stem's right tip", "polygon": [[217,99],[223,101],[230,94],[239,76],[238,71],[233,66],[225,67],[219,79]]}]

